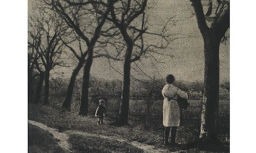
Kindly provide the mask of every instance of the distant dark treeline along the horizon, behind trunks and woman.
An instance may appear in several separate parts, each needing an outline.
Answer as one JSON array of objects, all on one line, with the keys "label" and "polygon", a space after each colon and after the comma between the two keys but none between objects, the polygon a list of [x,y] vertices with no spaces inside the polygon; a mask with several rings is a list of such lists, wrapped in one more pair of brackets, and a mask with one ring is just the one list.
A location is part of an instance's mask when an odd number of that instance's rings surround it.
[{"label": "distant dark treeline along the horizon, behind trunks and woman", "polygon": [[[39,80],[36,80],[38,82]],[[227,82],[221,84],[220,97],[228,98],[229,88]],[[68,80],[63,80],[61,78],[54,78],[50,80],[50,95],[63,97],[66,95]],[[229,84],[229,82],[228,82]],[[80,98],[81,96],[81,79],[77,79],[75,82],[74,97]],[[161,90],[165,85],[163,79],[156,80],[141,80],[141,81],[132,81],[131,82],[131,99],[141,99],[145,97],[150,97],[154,99],[161,99],[162,94]],[[186,82],[186,81],[176,81],[175,85],[180,89],[186,91],[190,99],[200,99],[203,93],[203,82]],[[35,87],[33,87],[35,88]],[[122,91],[122,81],[121,80],[104,80],[92,77],[90,79],[89,95],[92,98],[97,97],[120,97]],[[78,100],[77,99],[77,100]]]}]

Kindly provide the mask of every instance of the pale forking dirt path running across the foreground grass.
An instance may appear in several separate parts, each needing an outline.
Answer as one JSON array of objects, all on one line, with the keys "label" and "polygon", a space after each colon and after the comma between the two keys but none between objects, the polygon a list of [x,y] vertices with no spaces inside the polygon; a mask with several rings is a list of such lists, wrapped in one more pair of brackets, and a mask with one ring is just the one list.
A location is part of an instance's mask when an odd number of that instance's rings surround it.
[{"label": "pale forking dirt path running across the foreground grass", "polygon": [[[144,152],[148,152],[148,153],[151,153],[151,152],[152,153],[153,152],[160,152],[160,153],[170,152],[167,149],[156,148],[153,145],[147,145],[147,144],[139,143],[137,141],[129,142],[128,140],[120,139],[120,138],[117,138],[117,137],[114,137],[114,136],[104,136],[104,135],[92,134],[92,133],[82,132],[82,131],[66,131],[66,132],[60,133],[60,132],[58,132],[57,129],[54,129],[52,127],[48,127],[47,125],[42,124],[40,122],[29,120],[29,123],[32,124],[32,125],[35,125],[37,127],[40,127],[42,130],[46,130],[49,133],[51,133],[53,135],[53,137],[58,140],[59,146],[62,147],[63,149],[65,149],[65,150],[68,150],[69,152],[72,152],[72,150],[71,150],[70,144],[68,143],[68,139],[69,139],[69,136],[72,135],[72,134],[78,134],[78,135],[82,135],[82,136],[91,136],[91,137],[100,137],[100,138],[103,138],[103,139],[117,140],[117,141],[120,141],[120,142],[126,142],[126,143],[131,144],[131,145],[133,145],[137,148],[140,148],[140,149],[144,150]],[[177,151],[177,152],[180,152],[180,151]]]}]

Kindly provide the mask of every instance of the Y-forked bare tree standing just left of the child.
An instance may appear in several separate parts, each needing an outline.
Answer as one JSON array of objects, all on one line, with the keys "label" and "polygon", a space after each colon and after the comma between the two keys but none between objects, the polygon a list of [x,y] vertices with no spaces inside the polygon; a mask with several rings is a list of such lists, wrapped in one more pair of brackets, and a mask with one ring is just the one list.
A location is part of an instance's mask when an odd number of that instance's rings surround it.
[{"label": "Y-forked bare tree standing just left of the child", "polygon": [[[99,2],[99,1],[46,1],[47,4],[52,6],[53,10],[56,11],[69,25],[71,29],[73,29],[76,34],[84,41],[87,46],[87,59],[86,63],[83,67],[83,82],[82,82],[82,95],[81,95],[81,105],[79,115],[87,115],[88,114],[88,95],[89,95],[89,79],[90,79],[90,70],[93,62],[93,52],[94,46],[100,37],[101,29],[103,24],[108,17],[111,4],[110,1],[107,3]],[[102,15],[99,15],[94,11],[94,5],[102,5],[101,11]],[[73,11],[81,11],[80,13],[73,13]],[[89,16],[84,16],[84,14],[89,14]],[[95,20],[92,19],[95,18]],[[82,18],[82,21],[80,20]],[[79,22],[81,21],[81,22]],[[96,21],[96,22],[95,22]],[[83,27],[83,24],[89,22],[91,24],[91,28],[87,29],[87,27]],[[96,24],[96,26],[94,26]],[[89,38],[91,36],[91,39]],[[64,107],[70,107],[71,96],[63,104]],[[66,105],[67,104],[67,105]]]}]

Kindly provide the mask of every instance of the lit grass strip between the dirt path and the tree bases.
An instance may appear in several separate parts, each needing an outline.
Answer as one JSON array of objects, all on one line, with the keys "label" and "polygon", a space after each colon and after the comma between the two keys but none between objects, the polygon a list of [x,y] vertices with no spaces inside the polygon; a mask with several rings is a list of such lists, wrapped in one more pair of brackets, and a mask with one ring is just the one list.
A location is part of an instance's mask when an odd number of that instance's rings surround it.
[{"label": "lit grass strip between the dirt path and the tree bases", "polygon": [[116,136],[125,138],[130,141],[155,143],[161,141],[162,137],[158,137],[155,132],[145,131],[143,124],[137,126],[126,125],[115,127],[109,125],[114,120],[105,118],[105,124],[98,126],[97,118],[92,115],[82,117],[73,112],[62,112],[47,106],[29,106],[29,119],[55,127],[60,132],[67,130],[79,130],[94,134],[102,134],[106,136]]}]

